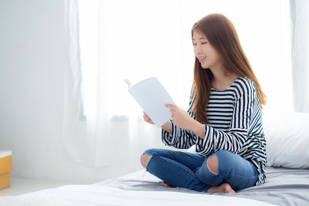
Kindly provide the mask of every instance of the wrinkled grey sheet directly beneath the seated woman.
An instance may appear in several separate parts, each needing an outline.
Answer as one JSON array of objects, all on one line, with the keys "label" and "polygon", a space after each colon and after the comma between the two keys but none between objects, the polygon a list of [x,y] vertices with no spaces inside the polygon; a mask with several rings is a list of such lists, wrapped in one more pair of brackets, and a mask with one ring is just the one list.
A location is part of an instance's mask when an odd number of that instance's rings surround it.
[{"label": "wrinkled grey sheet directly beneath the seated woman", "polygon": [[[159,183],[160,181],[145,170],[141,170],[96,185],[129,191],[199,193],[185,188],[165,188]],[[211,195],[251,199],[278,206],[309,206],[309,169],[267,167],[266,183],[236,191],[233,195],[224,193]]]}]

